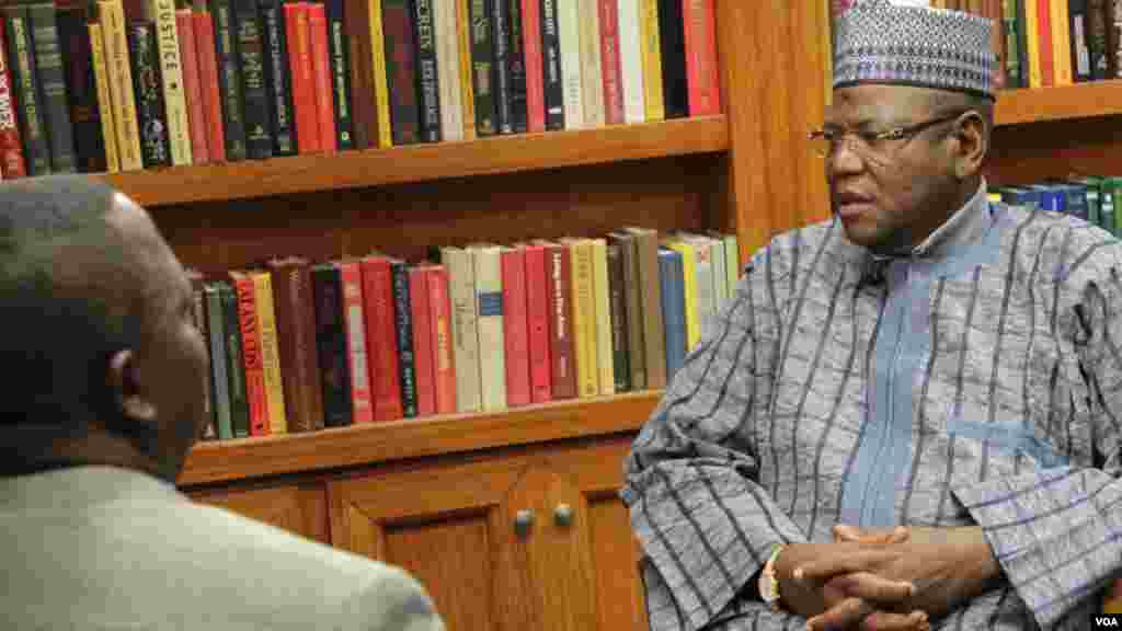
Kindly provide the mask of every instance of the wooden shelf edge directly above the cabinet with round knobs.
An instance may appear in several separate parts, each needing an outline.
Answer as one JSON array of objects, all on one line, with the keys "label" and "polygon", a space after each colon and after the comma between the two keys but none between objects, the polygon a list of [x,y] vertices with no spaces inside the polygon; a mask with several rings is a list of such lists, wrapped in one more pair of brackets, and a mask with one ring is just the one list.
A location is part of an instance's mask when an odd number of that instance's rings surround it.
[{"label": "wooden shelf edge directly above the cabinet with round knobs", "polygon": [[187,456],[177,484],[190,487],[636,430],[661,396],[662,391],[646,391],[496,413],[200,442]]}]

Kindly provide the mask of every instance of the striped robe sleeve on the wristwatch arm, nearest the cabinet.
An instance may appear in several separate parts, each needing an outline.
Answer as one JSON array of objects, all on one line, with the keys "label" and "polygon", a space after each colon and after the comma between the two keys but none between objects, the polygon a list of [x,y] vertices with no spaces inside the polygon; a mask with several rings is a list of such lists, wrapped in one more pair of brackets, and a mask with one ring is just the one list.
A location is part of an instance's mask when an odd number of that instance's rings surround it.
[{"label": "striped robe sleeve on the wristwatch arm, nearest the cabinet", "polygon": [[[757,484],[753,409],[770,394],[756,330],[774,313],[749,266],[717,313],[624,465],[620,492],[644,559],[653,631],[693,631],[742,591],[773,546],[806,541]],[[761,302],[764,303],[761,307]],[[758,401],[758,402],[757,402]]]}]

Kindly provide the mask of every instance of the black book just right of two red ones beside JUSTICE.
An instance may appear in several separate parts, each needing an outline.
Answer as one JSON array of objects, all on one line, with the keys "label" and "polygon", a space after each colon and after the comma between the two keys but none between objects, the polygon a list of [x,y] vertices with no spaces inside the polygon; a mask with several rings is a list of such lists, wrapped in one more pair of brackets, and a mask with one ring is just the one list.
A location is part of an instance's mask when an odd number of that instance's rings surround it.
[{"label": "black book just right of two red ones beside JUSTICE", "polygon": [[231,0],[211,0],[214,19],[214,58],[218,63],[218,86],[222,94],[222,135],[226,138],[227,162],[246,159],[245,101],[241,94],[241,68],[238,55],[237,26]]}]

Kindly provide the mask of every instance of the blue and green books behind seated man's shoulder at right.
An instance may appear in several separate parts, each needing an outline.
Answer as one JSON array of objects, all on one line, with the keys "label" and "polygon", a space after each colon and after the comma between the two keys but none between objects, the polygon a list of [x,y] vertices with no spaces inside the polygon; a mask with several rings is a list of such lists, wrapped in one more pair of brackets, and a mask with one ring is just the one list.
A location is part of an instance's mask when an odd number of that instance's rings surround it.
[{"label": "blue and green books behind seated man's shoulder at right", "polygon": [[1122,177],[1072,176],[1028,185],[995,186],[991,199],[1065,212],[1122,238]]}]

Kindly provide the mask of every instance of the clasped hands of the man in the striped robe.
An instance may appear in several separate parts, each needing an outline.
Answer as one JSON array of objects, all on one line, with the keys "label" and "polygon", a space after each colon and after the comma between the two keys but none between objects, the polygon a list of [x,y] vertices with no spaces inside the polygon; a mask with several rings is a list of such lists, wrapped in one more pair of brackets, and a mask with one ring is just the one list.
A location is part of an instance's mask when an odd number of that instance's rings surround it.
[{"label": "clasped hands of the man in the striped robe", "polygon": [[984,592],[1000,566],[977,527],[834,529],[775,560],[783,605],[810,631],[917,631]]}]

